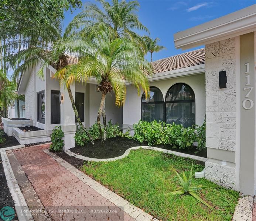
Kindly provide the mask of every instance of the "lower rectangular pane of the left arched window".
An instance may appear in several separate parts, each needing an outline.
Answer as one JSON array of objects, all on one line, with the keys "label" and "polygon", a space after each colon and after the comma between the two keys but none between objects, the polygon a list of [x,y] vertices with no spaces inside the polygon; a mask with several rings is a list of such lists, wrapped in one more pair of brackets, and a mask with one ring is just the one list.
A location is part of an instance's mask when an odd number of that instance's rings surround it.
[{"label": "lower rectangular pane of the left arched window", "polygon": [[151,122],[153,120],[164,120],[164,104],[142,104],[141,120]]}]

